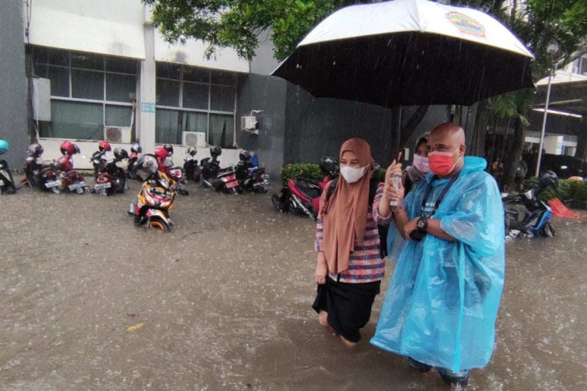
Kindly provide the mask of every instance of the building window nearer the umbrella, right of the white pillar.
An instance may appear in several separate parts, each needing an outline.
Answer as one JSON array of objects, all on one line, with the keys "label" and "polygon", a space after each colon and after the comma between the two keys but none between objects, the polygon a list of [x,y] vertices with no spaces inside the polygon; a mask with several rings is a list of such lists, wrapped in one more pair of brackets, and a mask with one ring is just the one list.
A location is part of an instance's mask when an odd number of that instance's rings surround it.
[{"label": "building window nearer the umbrella, right of the white pillar", "polygon": [[182,132],[205,132],[208,144],[232,147],[237,76],[157,63],[155,141],[181,144]]}]

